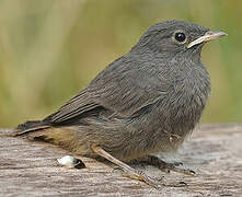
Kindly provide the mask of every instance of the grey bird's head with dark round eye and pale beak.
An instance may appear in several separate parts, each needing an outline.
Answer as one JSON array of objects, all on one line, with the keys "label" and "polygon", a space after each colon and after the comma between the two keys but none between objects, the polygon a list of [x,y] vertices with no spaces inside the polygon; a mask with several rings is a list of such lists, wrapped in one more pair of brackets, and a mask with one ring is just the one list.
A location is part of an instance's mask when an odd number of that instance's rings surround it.
[{"label": "grey bird's head with dark round eye and pale beak", "polygon": [[132,50],[165,57],[177,54],[200,56],[205,43],[224,35],[224,32],[212,32],[189,22],[165,21],[150,26]]}]

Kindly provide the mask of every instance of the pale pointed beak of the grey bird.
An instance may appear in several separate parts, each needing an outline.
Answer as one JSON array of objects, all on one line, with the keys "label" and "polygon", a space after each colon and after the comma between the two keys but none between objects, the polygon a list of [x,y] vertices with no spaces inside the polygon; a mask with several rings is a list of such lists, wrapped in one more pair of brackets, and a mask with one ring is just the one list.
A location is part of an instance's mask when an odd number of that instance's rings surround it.
[{"label": "pale pointed beak of the grey bird", "polygon": [[209,42],[209,40],[212,40],[212,39],[217,39],[217,38],[219,38],[221,36],[226,36],[226,35],[228,35],[228,34],[224,33],[224,32],[211,32],[211,31],[209,31],[205,35],[203,35],[203,36],[198,37],[197,39],[191,42],[187,45],[187,48],[191,48],[191,47],[193,47],[195,45],[198,45],[200,43],[205,43],[205,42]]}]

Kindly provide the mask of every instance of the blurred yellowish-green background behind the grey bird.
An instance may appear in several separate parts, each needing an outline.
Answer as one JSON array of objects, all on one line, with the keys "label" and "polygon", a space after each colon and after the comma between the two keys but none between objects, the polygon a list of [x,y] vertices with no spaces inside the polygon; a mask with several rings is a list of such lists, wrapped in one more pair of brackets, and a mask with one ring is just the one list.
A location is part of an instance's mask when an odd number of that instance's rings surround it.
[{"label": "blurred yellowish-green background behind the grey bird", "polygon": [[204,47],[205,123],[242,120],[242,1],[0,0],[0,127],[44,118],[127,53],[152,24],[195,22],[229,36]]}]

